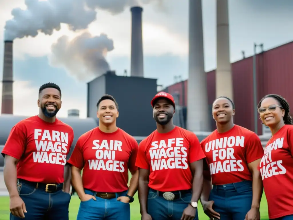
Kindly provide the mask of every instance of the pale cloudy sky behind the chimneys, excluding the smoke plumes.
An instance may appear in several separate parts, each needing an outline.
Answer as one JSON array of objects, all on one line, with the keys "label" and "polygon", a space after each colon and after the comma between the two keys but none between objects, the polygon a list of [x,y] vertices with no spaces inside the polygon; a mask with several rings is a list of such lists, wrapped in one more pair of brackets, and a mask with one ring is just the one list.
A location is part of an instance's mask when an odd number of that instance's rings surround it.
[{"label": "pale cloudy sky behind the chimneys, excluding the smoke plumes", "polygon": [[[68,2],[68,0],[62,1]],[[78,1],[93,2],[92,0],[72,0],[72,2]],[[99,0],[100,5],[111,1]],[[121,1],[127,2],[130,0]],[[12,18],[12,9],[17,7],[26,9],[24,2],[24,0],[0,0],[0,40],[2,42],[4,40],[4,26],[6,21]],[[142,0],[142,2],[148,1]],[[215,0],[202,0],[206,71],[216,68],[215,2]],[[114,46],[113,50],[109,49],[111,45],[107,46],[108,50],[111,50],[106,55],[110,69],[115,70],[118,75],[122,75],[126,69],[129,74],[130,5],[126,4],[125,10],[120,13],[110,13],[108,10],[101,9],[101,7],[97,8],[95,10],[97,13],[96,20],[91,22],[88,28],[83,31],[70,31],[67,25],[61,24],[61,29],[54,31],[52,35],[40,33],[34,38],[16,38],[13,45],[14,114],[25,116],[37,114],[38,88],[41,84],[50,81],[57,83],[62,89],[62,109],[58,115],[66,117],[68,109],[76,108],[80,110],[81,117],[86,117],[86,81],[93,76],[86,73],[89,70],[84,66],[83,60],[85,57],[77,56],[72,52],[73,49],[79,53],[84,52],[86,44],[71,48],[71,50],[67,50],[67,53],[59,53],[62,62],[59,62],[58,65],[54,65],[51,62],[52,57],[54,58],[51,45],[56,43],[57,39],[62,35],[68,36],[69,40],[71,40],[85,31],[92,36],[100,35],[101,33],[107,34],[108,38],[113,40]],[[187,79],[188,0],[150,0],[148,4],[142,4],[142,6],[144,8],[145,77],[157,78],[158,84],[164,86],[173,84],[174,76],[181,75],[182,79]],[[61,11],[61,13],[64,13],[62,15],[66,15],[67,11],[62,10],[59,9],[59,12]],[[245,51],[246,56],[251,56],[254,42],[263,43],[264,49],[268,50],[293,41],[292,11],[292,0],[229,0],[231,62],[242,58],[242,50]],[[74,16],[77,21],[79,21],[80,17],[82,17],[80,13],[76,13],[76,16]],[[35,19],[29,22],[38,23],[38,21],[38,19]],[[25,23],[22,23],[21,28],[25,29],[25,27]],[[103,38],[104,44],[111,44],[108,38]],[[62,39],[64,40],[65,38]],[[65,45],[64,42],[61,41],[57,49],[62,49]],[[63,56],[64,54],[66,56]],[[99,54],[105,55],[105,51],[103,50],[103,53]],[[0,60],[0,69],[2,71],[2,43],[0,44]],[[83,74],[80,74],[83,72],[85,72],[84,77]],[[2,74],[0,79],[2,79]],[[2,85],[0,85],[1,92]]]}]

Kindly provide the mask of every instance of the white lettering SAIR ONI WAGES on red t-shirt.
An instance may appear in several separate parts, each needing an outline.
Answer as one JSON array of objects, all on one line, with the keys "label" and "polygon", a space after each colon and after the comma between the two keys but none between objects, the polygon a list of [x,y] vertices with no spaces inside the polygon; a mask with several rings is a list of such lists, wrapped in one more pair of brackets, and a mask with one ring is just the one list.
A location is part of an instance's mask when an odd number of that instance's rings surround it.
[{"label": "white lettering SAIR ONI WAGES on red t-shirt", "polygon": [[122,152],[122,141],[94,140],[93,145],[97,160],[88,160],[90,170],[125,171],[124,161],[115,160],[116,152]]}]

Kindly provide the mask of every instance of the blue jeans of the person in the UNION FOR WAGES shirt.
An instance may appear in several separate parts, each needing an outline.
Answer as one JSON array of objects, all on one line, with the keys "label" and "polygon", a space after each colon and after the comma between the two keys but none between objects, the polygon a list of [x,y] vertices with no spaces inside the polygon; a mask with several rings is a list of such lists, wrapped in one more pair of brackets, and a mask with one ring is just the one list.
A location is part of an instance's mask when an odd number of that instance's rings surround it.
[{"label": "blue jeans of the person in the UNION FOR WAGES shirt", "polygon": [[214,185],[209,196],[221,220],[245,219],[252,203],[252,181]]}]

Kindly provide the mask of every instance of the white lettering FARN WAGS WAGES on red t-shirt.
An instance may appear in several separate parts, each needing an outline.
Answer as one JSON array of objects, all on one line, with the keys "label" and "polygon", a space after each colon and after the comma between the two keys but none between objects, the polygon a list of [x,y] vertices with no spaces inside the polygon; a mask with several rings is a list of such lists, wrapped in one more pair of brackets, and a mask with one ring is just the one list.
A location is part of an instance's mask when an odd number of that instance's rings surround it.
[{"label": "white lettering FARN WAGS WAGES on red t-shirt", "polygon": [[66,164],[68,133],[35,129],[36,151],[33,152],[34,163]]}]

